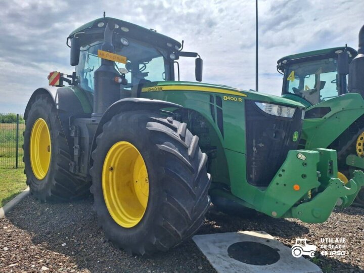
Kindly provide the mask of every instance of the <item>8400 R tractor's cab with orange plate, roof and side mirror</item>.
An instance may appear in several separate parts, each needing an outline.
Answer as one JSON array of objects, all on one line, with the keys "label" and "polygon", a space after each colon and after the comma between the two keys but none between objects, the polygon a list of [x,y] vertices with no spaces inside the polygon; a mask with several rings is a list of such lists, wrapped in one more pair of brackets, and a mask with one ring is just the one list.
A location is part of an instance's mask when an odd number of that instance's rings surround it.
[{"label": "8400 R tractor's cab with orange plate, roof and side mirror", "polygon": [[[108,24],[115,27],[110,35],[111,47],[105,50],[102,47]],[[181,52],[183,44],[153,29],[108,17],[79,27],[69,35],[67,45],[69,40],[71,52],[74,52],[71,65],[76,66],[76,85],[90,93],[94,93],[94,74],[102,65],[102,58],[114,62],[118,74],[115,80],[121,83],[121,92],[127,94],[132,86],[139,84],[173,81],[176,60],[180,56],[198,56],[197,53]],[[196,71],[202,71],[202,60],[198,59]],[[200,78],[201,75],[197,75],[196,80],[201,81]]]}]

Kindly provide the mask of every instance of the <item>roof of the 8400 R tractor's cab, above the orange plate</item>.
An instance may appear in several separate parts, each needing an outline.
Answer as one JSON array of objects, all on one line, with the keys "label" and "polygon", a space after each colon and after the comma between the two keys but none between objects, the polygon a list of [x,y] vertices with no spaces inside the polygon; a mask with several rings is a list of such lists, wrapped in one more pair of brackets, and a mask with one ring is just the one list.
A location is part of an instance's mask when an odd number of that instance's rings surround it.
[{"label": "roof of the 8400 R tractor's cab, above the orange plate", "polygon": [[[102,27],[99,27],[98,24],[100,22],[104,22],[104,25]],[[144,40],[158,40],[158,41],[163,41],[164,44],[170,43],[172,44],[172,48],[175,50],[175,46],[178,47],[178,49],[181,47],[180,42],[165,36],[163,34],[160,34],[158,32],[156,32],[155,30],[151,30],[148,28],[144,28],[126,21],[122,21],[116,18],[111,18],[111,17],[105,17],[105,18],[98,18],[96,20],[90,21],[78,28],[76,28],[75,30],[73,30],[68,38],[72,38],[74,36],[74,34],[78,33],[78,32],[83,32],[83,31],[91,31],[91,30],[98,30],[100,28],[105,28],[107,23],[109,22],[113,22],[115,23],[119,29],[124,29],[127,31],[125,31],[125,34],[129,34],[132,36],[139,36],[139,37],[143,37]]]}]

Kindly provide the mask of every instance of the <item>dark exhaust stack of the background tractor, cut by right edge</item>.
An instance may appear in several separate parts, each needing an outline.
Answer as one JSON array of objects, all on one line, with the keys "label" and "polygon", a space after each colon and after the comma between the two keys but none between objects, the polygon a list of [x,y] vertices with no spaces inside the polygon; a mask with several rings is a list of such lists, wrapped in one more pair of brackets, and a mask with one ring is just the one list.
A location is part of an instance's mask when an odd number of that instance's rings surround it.
[{"label": "dark exhaust stack of the background tractor, cut by right edge", "polygon": [[359,93],[364,98],[364,25],[359,31],[358,55],[349,66],[349,92]]}]

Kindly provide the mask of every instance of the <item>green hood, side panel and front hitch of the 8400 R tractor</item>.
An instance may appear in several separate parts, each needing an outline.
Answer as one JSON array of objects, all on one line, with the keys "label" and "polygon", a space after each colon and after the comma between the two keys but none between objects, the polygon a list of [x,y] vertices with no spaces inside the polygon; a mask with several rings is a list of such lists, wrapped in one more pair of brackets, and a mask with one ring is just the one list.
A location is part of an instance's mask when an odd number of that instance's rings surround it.
[{"label": "green hood, side panel and front hitch of the 8400 R tractor", "polygon": [[[214,98],[214,103],[210,102],[210,96]],[[216,96],[223,98],[223,135],[211,116],[211,105],[214,106],[216,116],[218,108]],[[185,109],[200,113],[206,120],[211,145],[217,147],[217,155],[210,168],[212,170],[210,195],[228,198],[272,217],[295,217],[306,222],[323,222],[330,215],[338,198],[342,197],[342,204],[345,206],[350,199],[345,194],[353,194],[353,191],[345,192],[340,187],[330,188],[331,181],[335,181],[334,183],[339,181],[340,185],[343,183],[337,178],[336,151],[327,149],[291,150],[268,187],[259,188],[248,183],[245,137],[249,132],[245,130],[244,101],[254,100],[304,108],[300,102],[228,86],[175,81],[149,83],[142,88],[141,97],[180,104]],[[354,96],[353,100],[355,98]],[[352,103],[353,100],[347,103]],[[297,157],[299,153],[304,155],[305,160]],[[321,173],[321,177],[317,177],[317,171]],[[218,186],[220,184],[228,185],[230,191],[221,190]],[[294,190],[294,185],[299,185],[300,189]],[[354,178],[352,188],[357,189],[357,185],[364,185],[364,177]],[[324,195],[320,197],[316,194],[311,200],[310,191]],[[355,193],[354,195],[356,196]],[[304,214],[301,207],[297,209],[297,205],[301,203],[307,204]],[[324,203],[330,205],[324,207]],[[320,206],[324,207],[320,213],[313,210]]]}]

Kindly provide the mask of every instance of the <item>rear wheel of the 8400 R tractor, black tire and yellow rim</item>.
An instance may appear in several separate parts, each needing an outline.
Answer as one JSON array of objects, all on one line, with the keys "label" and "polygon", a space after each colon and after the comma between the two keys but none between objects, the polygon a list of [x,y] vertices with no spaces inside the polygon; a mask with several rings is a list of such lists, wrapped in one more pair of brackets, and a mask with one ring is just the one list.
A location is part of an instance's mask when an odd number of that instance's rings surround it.
[{"label": "rear wheel of the 8400 R tractor, black tire and yellow rim", "polygon": [[48,95],[38,95],[25,120],[24,173],[30,193],[42,202],[89,195],[90,181],[69,170],[71,157],[57,109]]}]

